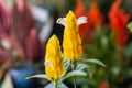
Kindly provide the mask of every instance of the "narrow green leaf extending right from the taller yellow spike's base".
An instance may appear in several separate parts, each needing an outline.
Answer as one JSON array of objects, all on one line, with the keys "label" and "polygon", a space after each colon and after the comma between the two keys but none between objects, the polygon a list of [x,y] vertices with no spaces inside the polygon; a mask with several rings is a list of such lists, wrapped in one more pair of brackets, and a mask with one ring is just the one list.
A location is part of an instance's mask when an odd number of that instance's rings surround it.
[{"label": "narrow green leaf extending right from the taller yellow spike's base", "polygon": [[106,67],[106,65],[99,59],[84,59],[84,58],[81,58],[78,61],[78,63],[95,63],[95,64],[98,64],[100,66]]}]

